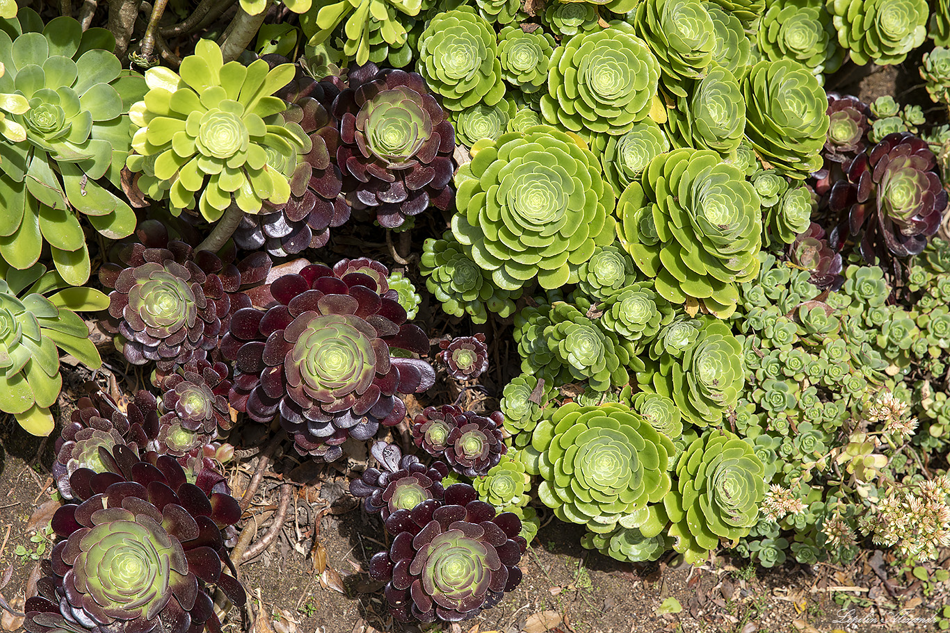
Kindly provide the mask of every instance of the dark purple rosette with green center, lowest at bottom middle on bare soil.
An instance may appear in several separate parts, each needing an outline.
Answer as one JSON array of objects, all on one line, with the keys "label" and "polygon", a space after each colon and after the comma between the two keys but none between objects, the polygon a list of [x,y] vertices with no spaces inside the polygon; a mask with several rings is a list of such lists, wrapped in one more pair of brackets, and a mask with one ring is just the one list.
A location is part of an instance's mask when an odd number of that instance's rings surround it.
[{"label": "dark purple rosette with green center, lowest at bottom middle on bare soil", "polygon": [[527,542],[521,519],[496,515],[468,484],[446,489],[445,500],[397,510],[386,520],[389,551],[370,561],[374,580],[388,581],[390,613],[401,622],[458,622],[497,605],[521,583]]}]

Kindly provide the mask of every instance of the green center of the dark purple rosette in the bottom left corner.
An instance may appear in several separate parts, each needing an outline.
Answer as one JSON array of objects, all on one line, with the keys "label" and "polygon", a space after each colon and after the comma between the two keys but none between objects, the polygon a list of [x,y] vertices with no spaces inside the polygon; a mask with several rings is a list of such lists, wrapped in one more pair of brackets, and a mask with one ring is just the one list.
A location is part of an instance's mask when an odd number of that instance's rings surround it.
[{"label": "green center of the dark purple rosette in the bottom left corner", "polygon": [[100,519],[116,518],[76,539],[72,583],[91,599],[83,602],[85,608],[102,613],[106,622],[109,617],[153,620],[172,596],[169,586],[187,573],[184,551],[148,516],[116,508],[99,512]]}]

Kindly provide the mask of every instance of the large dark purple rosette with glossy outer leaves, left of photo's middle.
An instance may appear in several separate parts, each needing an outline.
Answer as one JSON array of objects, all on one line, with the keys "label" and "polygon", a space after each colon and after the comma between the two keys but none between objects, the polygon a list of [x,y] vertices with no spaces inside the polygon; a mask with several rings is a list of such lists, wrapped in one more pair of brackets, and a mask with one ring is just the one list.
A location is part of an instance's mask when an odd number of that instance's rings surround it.
[{"label": "large dark purple rosette with glossy outer leaves, left of photo's middle", "polygon": [[297,452],[326,461],[342,455],[347,438],[397,424],[406,416],[401,397],[435,382],[428,363],[390,354],[429,347],[395,291],[349,265],[336,270],[312,265],[278,277],[273,303],[238,310],[221,342],[236,361],[232,406],[260,422],[279,415]]}]

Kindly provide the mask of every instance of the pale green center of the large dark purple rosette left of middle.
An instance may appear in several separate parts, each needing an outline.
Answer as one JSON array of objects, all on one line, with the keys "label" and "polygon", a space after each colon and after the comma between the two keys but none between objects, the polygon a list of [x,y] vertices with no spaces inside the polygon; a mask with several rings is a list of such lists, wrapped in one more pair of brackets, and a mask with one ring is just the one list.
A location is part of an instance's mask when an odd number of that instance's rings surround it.
[{"label": "pale green center of the large dark purple rosette left of middle", "polygon": [[[289,352],[288,373],[291,367],[298,372],[291,383],[302,385],[311,398],[326,403],[366,392],[376,377],[375,331],[352,315],[312,317],[298,317],[305,328]],[[293,329],[292,325],[288,331]]]}]

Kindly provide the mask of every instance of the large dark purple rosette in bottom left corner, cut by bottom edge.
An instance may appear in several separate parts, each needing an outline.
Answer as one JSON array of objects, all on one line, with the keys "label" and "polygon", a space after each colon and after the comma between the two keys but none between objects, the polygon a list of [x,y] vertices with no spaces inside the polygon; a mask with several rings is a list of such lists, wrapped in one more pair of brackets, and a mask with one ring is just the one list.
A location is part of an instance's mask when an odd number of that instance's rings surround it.
[{"label": "large dark purple rosette in bottom left corner, cut by bottom edge", "polygon": [[209,585],[236,605],[245,593],[222,529],[240,518],[228,494],[188,483],[179,463],[126,446],[100,449],[103,473],[75,471],[79,504],[53,516],[65,540],[50,554],[39,595],[27,601],[30,633],[219,630]]}]

